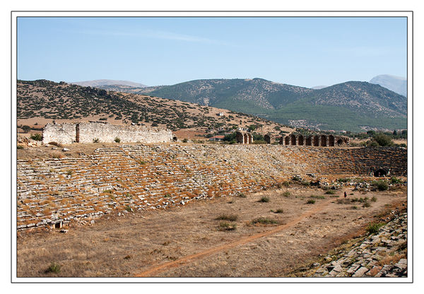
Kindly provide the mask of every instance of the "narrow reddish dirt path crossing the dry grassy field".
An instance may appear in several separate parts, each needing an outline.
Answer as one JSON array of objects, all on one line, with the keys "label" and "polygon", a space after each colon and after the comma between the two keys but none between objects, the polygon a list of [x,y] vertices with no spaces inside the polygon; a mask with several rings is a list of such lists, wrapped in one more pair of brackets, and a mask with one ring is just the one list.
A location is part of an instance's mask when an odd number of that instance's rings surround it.
[{"label": "narrow reddish dirt path crossing the dry grassy field", "polygon": [[175,268],[175,267],[178,267],[178,266],[190,264],[196,259],[202,259],[202,258],[207,257],[211,254],[216,253],[216,252],[223,252],[226,249],[231,249],[231,248],[237,247],[239,245],[245,245],[245,244],[252,242],[254,240],[257,240],[261,237],[266,237],[266,236],[273,235],[275,233],[281,232],[282,230],[293,227],[293,225],[300,223],[302,220],[304,220],[305,218],[307,218],[309,216],[312,216],[314,213],[322,211],[324,209],[324,207],[327,206],[330,203],[330,201],[331,201],[331,199],[328,199],[328,200],[322,202],[321,204],[315,206],[314,208],[310,209],[309,211],[306,211],[305,213],[303,213],[298,218],[291,220],[289,223],[285,223],[284,225],[278,225],[276,228],[273,228],[272,230],[268,230],[268,231],[262,232],[262,233],[257,233],[257,234],[250,235],[250,236],[247,236],[247,237],[242,237],[242,238],[240,238],[240,239],[238,239],[234,242],[229,242],[229,243],[225,243],[223,245],[219,245],[217,247],[212,247],[212,248],[207,249],[203,252],[191,254],[187,257],[182,257],[182,258],[177,259],[175,261],[165,262],[165,264],[160,264],[159,266],[153,266],[150,269],[147,269],[146,271],[142,271],[141,273],[136,274],[135,276],[136,277],[153,276],[155,274],[158,274],[160,271],[165,271],[167,269],[171,269],[171,268]]}]

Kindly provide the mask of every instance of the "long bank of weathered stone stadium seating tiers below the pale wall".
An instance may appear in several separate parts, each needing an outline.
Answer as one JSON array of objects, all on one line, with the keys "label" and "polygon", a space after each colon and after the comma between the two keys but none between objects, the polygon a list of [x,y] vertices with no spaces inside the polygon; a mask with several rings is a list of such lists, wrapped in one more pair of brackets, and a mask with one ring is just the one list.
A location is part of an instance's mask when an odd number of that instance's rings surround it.
[{"label": "long bank of weathered stone stadium seating tiers below the pale wall", "polygon": [[404,148],[259,145],[120,145],[81,158],[18,160],[18,230],[88,220],[126,209],[273,187],[293,175],[406,176]]}]

